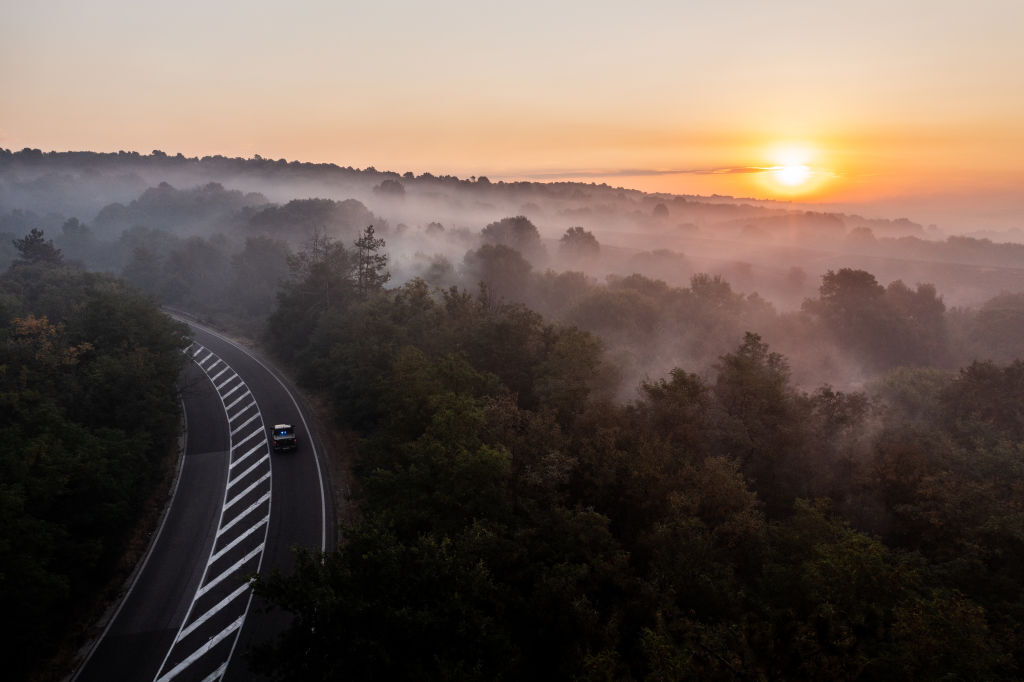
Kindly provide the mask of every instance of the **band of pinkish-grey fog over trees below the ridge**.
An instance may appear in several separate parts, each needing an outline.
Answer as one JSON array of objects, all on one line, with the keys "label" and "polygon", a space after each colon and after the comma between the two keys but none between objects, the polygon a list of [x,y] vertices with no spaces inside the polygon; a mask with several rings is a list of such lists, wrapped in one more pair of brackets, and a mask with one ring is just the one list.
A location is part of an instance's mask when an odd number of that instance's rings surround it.
[{"label": "band of pinkish-grey fog over trees below the ridge", "polygon": [[[861,208],[259,157],[2,151],[0,266],[14,257],[13,239],[39,228],[69,260],[255,336],[290,275],[289,254],[314,236],[350,249],[372,224],[386,243],[389,287],[419,278],[476,293],[482,283],[497,300],[594,332],[622,370],[626,399],[674,367],[710,372],[746,331],[807,387],[1015,356],[1006,316],[1024,315],[1013,298],[1024,291],[1024,245],[1011,241],[1020,214],[955,235],[930,212],[926,223]],[[845,329],[821,311],[823,278],[847,270],[873,276],[869,305],[890,318]],[[1010,310],[1001,332],[984,314],[993,306]],[[872,341],[870,325],[894,324],[899,333]],[[929,345],[935,335],[941,348]]]}]

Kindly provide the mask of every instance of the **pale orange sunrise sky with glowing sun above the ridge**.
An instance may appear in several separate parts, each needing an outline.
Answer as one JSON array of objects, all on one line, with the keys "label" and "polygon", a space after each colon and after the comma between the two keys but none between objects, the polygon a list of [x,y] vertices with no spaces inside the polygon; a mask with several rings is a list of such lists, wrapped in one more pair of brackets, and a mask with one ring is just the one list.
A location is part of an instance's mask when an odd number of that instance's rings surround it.
[{"label": "pale orange sunrise sky with glowing sun above the ridge", "polygon": [[1022,35],[1021,0],[0,0],[0,146],[1024,216]]}]

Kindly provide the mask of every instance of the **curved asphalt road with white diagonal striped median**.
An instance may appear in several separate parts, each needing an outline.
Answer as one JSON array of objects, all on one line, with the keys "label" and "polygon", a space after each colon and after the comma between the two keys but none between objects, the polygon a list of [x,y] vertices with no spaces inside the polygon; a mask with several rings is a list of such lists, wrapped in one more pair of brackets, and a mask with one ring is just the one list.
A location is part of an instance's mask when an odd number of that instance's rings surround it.
[{"label": "curved asphalt road with white diagonal striped median", "polygon": [[[293,547],[334,549],[312,420],[276,373],[196,323],[183,374],[187,424],[173,499],[150,551],[77,680],[247,680],[239,655],[281,630],[248,579],[288,571]],[[267,429],[296,426],[273,454]]]}]

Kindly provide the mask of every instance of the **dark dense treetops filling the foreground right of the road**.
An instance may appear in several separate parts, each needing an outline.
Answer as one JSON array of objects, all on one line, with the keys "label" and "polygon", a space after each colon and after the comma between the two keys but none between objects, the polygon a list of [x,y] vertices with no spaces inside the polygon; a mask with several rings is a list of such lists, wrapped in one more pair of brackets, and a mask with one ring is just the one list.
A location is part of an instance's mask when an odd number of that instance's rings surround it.
[{"label": "dark dense treetops filling the foreground right of the road", "polygon": [[[590,333],[486,287],[360,295],[352,272],[340,246],[306,253],[270,322],[276,352],[366,438],[341,549],[258,585],[295,615],[262,672],[1019,676],[1024,363],[805,391],[748,333],[708,375],[676,369],[624,404]],[[808,324],[897,366],[858,330],[907,308],[927,328],[941,301],[865,275],[829,273]],[[650,287],[697,325],[692,302],[714,292],[746,305],[710,278],[677,294],[638,279],[606,300],[640,292],[620,307],[640,314]]]}]

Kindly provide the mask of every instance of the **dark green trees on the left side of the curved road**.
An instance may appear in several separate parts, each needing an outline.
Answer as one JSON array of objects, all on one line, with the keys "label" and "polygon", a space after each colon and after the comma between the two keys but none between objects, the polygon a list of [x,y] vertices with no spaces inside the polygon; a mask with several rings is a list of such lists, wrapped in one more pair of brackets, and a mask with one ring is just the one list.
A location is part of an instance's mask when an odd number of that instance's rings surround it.
[{"label": "dark green trees on the left side of the curved road", "polygon": [[177,429],[183,329],[35,230],[0,275],[0,641],[20,678],[90,605]]}]

